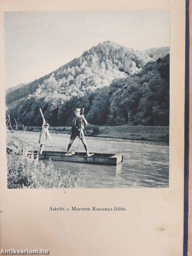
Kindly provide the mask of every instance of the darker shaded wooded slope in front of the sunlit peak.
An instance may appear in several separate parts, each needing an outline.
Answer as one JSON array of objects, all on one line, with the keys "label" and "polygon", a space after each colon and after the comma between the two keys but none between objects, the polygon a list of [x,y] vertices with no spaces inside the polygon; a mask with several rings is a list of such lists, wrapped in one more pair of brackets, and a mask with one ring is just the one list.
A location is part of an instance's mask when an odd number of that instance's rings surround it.
[{"label": "darker shaded wooded slope in front of the sunlit peak", "polygon": [[[72,97],[58,110],[60,125],[70,124],[74,106],[84,107],[96,125],[169,125],[169,54],[147,63],[138,73],[114,80],[110,86]],[[55,112],[56,114],[56,112]]]}]

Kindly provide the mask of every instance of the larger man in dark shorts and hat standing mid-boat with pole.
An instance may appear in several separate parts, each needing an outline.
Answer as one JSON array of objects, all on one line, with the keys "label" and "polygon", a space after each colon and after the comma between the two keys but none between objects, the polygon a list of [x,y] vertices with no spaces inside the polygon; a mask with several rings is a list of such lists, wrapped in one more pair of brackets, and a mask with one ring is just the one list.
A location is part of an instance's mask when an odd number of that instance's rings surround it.
[{"label": "larger man in dark shorts and hat standing mid-boat with pole", "polygon": [[70,147],[71,147],[72,143],[74,142],[76,136],[78,136],[79,139],[82,141],[82,143],[84,145],[87,156],[90,156],[90,154],[88,152],[84,132],[83,132],[84,125],[87,125],[88,122],[85,119],[83,114],[80,115],[80,110],[81,110],[80,108],[76,108],[76,110],[74,111],[76,117],[74,117],[74,119],[73,119],[73,124],[72,124],[72,128],[71,128],[70,142],[69,142],[68,148],[67,148],[67,155],[69,154]]}]

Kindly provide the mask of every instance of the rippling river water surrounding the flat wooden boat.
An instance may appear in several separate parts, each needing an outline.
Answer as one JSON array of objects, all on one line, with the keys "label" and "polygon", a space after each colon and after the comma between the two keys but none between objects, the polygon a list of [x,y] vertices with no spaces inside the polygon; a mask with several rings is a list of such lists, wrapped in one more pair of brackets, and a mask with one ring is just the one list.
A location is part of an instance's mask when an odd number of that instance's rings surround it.
[{"label": "rippling river water surrounding the flat wooden boat", "polygon": [[[28,142],[37,142],[38,132],[26,132]],[[56,151],[66,151],[70,135],[52,134]],[[78,150],[78,138],[70,151]],[[162,188],[169,184],[169,146],[162,142],[142,142],[114,138],[86,137],[90,152],[123,154],[119,166],[104,166],[52,161],[63,174],[82,172],[84,188]],[[36,144],[37,145],[37,144]],[[50,140],[45,150],[52,150]],[[84,152],[80,142],[80,152]]]}]

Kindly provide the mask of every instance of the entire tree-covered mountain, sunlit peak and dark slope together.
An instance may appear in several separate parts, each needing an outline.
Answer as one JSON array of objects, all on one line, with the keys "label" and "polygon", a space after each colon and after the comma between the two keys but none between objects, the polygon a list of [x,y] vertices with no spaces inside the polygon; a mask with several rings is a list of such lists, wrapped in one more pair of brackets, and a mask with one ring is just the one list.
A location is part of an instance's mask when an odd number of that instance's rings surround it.
[{"label": "entire tree-covered mountain, sunlit peak and dark slope together", "polygon": [[[169,48],[148,51],[104,42],[58,70],[6,93],[12,118],[70,125],[76,107],[96,125],[169,125]],[[166,55],[166,56],[165,56]]]}]

